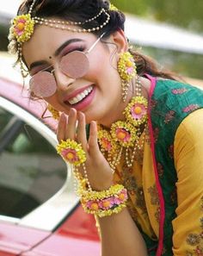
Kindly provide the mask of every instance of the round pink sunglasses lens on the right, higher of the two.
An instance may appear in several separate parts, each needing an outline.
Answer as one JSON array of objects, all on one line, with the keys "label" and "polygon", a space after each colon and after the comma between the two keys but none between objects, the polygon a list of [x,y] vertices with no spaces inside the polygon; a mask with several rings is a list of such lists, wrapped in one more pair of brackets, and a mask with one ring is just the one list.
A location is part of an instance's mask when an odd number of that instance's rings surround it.
[{"label": "round pink sunglasses lens on the right, higher of the two", "polygon": [[59,69],[71,78],[82,78],[89,70],[89,59],[85,53],[74,51],[61,59]]}]

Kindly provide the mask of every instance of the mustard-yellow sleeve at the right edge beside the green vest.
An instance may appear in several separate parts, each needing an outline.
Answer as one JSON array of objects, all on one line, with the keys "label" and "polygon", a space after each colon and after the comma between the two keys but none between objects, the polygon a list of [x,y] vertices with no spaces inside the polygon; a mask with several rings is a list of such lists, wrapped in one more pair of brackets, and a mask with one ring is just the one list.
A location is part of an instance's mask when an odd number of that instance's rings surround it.
[{"label": "mustard-yellow sleeve at the right edge beside the green vest", "polygon": [[175,134],[177,172],[175,256],[203,256],[203,109],[186,117]]}]

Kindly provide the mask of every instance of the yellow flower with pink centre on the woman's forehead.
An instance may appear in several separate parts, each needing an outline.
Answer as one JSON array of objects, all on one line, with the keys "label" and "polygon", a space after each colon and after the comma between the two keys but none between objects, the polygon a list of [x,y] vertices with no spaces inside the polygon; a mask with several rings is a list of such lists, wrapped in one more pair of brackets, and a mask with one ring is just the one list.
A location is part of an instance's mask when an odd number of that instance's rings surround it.
[{"label": "yellow flower with pink centre on the woman's forehead", "polygon": [[34,19],[30,14],[16,16],[10,29],[10,34],[15,37],[16,41],[23,43],[28,41],[32,34],[34,34]]}]

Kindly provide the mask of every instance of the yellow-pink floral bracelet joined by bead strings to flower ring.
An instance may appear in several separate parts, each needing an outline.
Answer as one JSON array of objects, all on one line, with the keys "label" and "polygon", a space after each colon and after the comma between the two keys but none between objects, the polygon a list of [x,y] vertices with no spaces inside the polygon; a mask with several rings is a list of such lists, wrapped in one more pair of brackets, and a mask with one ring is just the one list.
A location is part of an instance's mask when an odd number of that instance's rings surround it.
[{"label": "yellow-pink floral bracelet joined by bead strings to flower ring", "polygon": [[[108,190],[95,191],[91,189],[87,171],[84,165],[86,156],[81,144],[74,140],[61,140],[57,146],[58,153],[65,161],[73,165],[74,176],[77,178],[77,194],[86,213],[104,217],[119,213],[126,207],[127,191],[121,184],[114,184]],[[77,167],[83,166],[83,175]]]}]

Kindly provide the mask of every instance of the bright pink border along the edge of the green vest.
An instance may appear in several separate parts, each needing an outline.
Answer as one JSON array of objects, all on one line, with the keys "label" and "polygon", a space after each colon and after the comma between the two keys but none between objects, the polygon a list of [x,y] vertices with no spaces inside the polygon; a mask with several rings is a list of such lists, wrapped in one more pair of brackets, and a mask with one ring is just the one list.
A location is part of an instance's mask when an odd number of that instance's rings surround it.
[{"label": "bright pink border along the edge of the green vest", "polygon": [[[153,78],[148,74],[145,74],[146,78],[149,78],[151,80],[151,90],[150,90],[150,103],[151,103],[151,97],[155,90],[156,84],[157,84],[157,78]],[[163,190],[161,187],[161,184],[159,182],[158,178],[158,172],[157,172],[157,163],[156,163],[156,156],[155,156],[155,140],[153,136],[153,128],[151,123],[151,109],[148,109],[148,124],[150,128],[150,136],[151,136],[151,152],[152,152],[152,158],[153,158],[153,165],[155,170],[155,177],[157,182],[157,190],[158,190],[158,196],[160,200],[160,223],[159,223],[159,240],[158,240],[158,247],[157,247],[157,254],[156,256],[161,256],[163,251],[163,224],[165,219],[165,207],[164,207],[164,199],[163,199]]]}]

